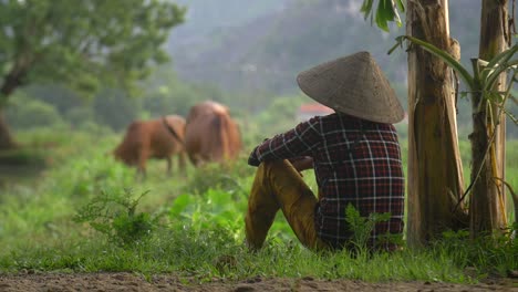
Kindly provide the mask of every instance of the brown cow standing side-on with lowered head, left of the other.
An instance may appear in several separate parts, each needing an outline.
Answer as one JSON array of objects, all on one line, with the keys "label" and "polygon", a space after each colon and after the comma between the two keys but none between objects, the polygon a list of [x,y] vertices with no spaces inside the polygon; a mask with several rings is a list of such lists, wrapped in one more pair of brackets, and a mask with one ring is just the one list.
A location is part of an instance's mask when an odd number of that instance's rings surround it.
[{"label": "brown cow standing side-on with lowered head, left of the other", "polygon": [[116,159],[128,166],[137,166],[137,174],[146,176],[146,160],[167,160],[167,174],[172,169],[172,156],[178,156],[178,168],[185,169],[185,118],[168,115],[151,121],[135,121],[126,129],[123,142],[113,152]]}]

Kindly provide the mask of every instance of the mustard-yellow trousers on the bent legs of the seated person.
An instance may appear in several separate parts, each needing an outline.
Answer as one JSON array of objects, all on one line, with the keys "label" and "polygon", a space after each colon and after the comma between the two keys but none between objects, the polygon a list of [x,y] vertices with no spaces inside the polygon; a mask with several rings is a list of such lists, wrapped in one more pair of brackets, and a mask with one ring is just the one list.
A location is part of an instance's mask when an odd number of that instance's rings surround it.
[{"label": "mustard-yellow trousers on the bent legs of the seated person", "polygon": [[303,246],[311,250],[329,249],[329,244],[317,236],[317,202],[315,196],[291,163],[261,163],[256,173],[245,217],[247,246],[251,250],[262,247],[276,213],[281,209]]}]

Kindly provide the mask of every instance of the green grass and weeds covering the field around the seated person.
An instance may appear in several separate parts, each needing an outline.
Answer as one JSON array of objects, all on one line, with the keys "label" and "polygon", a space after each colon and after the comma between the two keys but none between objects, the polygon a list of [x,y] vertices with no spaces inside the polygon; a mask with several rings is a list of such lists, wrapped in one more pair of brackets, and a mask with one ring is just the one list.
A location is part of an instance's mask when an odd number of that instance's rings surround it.
[{"label": "green grass and weeds covering the field around the seated person", "polygon": [[[186,174],[172,177],[165,174],[165,161],[152,160],[148,178],[137,182],[134,169],[106,155],[117,135],[48,135],[59,142],[46,147],[50,167],[30,184],[11,181],[0,192],[0,273],[132,271],[174,272],[199,281],[262,275],[470,283],[477,279],[464,273],[467,267],[475,267],[480,277],[518,269],[516,242],[472,246],[463,233],[421,251],[314,253],[298,243],[280,213],[267,247],[249,253],[242,244],[242,220],[253,168],[244,163],[246,157],[229,167],[189,166]],[[33,137],[22,136],[27,144]],[[35,144],[46,145],[42,137],[35,136]],[[516,146],[518,142],[509,142],[508,163],[517,158]],[[312,176],[304,178],[315,189]],[[518,188],[516,163],[508,164],[508,178]],[[133,212],[117,204],[142,194],[146,195]],[[102,196],[110,201],[102,212],[74,220]]]}]

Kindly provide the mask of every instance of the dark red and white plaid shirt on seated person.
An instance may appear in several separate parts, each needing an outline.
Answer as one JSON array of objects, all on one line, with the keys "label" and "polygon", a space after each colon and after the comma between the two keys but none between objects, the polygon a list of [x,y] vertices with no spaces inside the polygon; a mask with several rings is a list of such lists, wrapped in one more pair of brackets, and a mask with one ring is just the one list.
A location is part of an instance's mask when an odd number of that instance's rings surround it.
[{"label": "dark red and white plaid shirt on seated person", "polygon": [[395,248],[380,239],[403,232],[404,175],[393,125],[336,113],[317,116],[265,140],[250,159],[298,156],[313,157],[319,186],[315,228],[322,240],[334,248],[349,243],[352,232],[345,221],[345,207],[352,204],[362,217],[391,212],[388,221],[375,225],[367,247]]}]

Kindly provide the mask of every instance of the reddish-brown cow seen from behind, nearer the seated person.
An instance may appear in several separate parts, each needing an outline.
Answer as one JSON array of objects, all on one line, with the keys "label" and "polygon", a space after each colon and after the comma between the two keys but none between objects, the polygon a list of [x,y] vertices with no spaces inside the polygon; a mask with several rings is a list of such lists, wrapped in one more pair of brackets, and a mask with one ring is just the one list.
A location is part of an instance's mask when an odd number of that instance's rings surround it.
[{"label": "reddish-brown cow seen from behind, nearer the seated person", "polygon": [[239,155],[241,134],[226,106],[213,101],[196,104],[186,123],[185,147],[195,166],[206,161],[220,163]]}]

